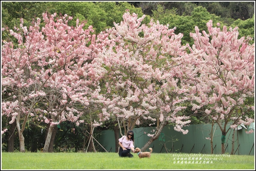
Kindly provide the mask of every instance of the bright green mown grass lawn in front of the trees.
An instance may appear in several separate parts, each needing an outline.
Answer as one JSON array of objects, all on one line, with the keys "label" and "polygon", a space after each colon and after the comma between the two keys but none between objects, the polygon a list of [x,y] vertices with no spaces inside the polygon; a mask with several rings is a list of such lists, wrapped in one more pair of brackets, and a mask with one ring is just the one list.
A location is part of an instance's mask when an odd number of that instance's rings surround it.
[{"label": "bright green mown grass lawn in front of the trees", "polygon": [[255,170],[254,156],[221,154],[152,153],[151,158],[121,158],[117,153],[2,152],[1,170]]}]

